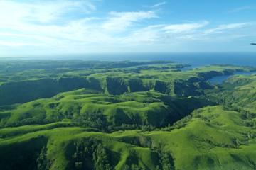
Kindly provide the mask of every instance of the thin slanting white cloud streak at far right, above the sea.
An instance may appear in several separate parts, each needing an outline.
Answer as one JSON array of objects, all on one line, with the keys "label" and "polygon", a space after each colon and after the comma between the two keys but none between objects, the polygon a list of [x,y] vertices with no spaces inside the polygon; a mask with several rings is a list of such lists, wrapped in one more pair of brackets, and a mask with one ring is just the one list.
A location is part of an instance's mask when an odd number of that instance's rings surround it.
[{"label": "thin slanting white cloud streak at far right, above the sea", "polygon": [[250,25],[250,23],[230,23],[230,24],[224,24],[220,25],[213,29],[208,29],[205,31],[205,33],[222,33],[225,30],[231,30],[235,28],[243,28],[245,26]]}]

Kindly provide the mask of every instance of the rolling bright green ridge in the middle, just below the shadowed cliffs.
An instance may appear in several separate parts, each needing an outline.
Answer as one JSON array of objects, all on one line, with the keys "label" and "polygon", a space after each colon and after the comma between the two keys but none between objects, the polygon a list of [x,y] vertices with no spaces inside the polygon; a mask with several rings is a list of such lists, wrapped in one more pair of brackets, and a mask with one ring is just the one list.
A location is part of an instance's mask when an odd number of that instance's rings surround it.
[{"label": "rolling bright green ridge in the middle, just below the shadowed cliffs", "polygon": [[157,91],[112,96],[80,89],[0,111],[0,125],[8,127],[65,120],[95,128],[123,124],[163,127],[209,104],[200,98],[173,98]]}]

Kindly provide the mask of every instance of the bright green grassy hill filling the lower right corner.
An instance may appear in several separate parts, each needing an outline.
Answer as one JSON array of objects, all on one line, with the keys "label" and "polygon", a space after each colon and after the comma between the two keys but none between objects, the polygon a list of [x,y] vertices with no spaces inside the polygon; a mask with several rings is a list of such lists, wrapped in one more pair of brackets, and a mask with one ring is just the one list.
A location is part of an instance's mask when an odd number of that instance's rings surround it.
[{"label": "bright green grassy hill filling the lower right corner", "polygon": [[244,116],[223,106],[202,108],[177,123],[182,128],[152,138],[172,153],[176,169],[255,169],[256,131]]}]

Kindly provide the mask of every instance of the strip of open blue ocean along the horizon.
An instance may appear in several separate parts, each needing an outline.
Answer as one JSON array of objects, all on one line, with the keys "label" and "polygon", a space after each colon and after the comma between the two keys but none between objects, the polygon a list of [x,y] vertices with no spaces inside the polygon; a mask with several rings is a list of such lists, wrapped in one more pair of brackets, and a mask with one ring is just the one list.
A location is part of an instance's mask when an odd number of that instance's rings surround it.
[{"label": "strip of open blue ocean along the horizon", "polygon": [[62,55],[50,59],[65,60],[102,60],[102,61],[148,61],[166,60],[191,64],[200,67],[210,64],[232,64],[256,67],[256,52],[225,52],[225,53],[114,53],[114,54],[86,54]]}]

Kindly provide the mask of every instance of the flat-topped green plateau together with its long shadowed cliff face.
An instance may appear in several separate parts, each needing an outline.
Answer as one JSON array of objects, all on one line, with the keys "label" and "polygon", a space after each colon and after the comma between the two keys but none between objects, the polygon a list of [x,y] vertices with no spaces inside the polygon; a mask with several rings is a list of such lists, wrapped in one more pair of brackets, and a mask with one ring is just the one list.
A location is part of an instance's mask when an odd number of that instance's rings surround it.
[{"label": "flat-topped green plateau together with its long shadowed cliff face", "polygon": [[[65,63],[63,64],[65,66]],[[50,98],[60,92],[81,88],[103,91],[105,94],[112,95],[154,90],[171,96],[196,96],[203,94],[204,89],[211,88],[206,82],[210,77],[252,69],[212,66],[180,72],[179,68],[183,67],[181,64],[160,65],[154,62],[151,64],[153,65],[119,69],[95,69],[96,66],[91,66],[92,69],[74,69],[72,64],[70,68],[67,64],[68,68],[60,67],[61,70],[28,69],[11,74],[2,73],[0,106],[26,103],[38,98]],[[133,63],[127,62],[127,65],[133,66]]]}]

